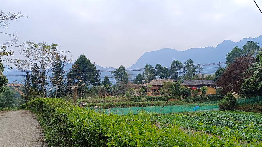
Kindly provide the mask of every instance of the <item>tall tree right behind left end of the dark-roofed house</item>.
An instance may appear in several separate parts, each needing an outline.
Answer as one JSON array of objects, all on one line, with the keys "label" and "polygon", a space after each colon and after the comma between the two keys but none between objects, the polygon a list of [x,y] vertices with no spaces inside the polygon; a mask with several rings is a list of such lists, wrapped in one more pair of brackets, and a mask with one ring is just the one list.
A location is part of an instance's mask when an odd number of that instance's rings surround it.
[{"label": "tall tree right behind left end of the dark-roofed house", "polygon": [[193,60],[187,59],[183,67],[184,79],[191,79],[197,73],[196,69]]}]

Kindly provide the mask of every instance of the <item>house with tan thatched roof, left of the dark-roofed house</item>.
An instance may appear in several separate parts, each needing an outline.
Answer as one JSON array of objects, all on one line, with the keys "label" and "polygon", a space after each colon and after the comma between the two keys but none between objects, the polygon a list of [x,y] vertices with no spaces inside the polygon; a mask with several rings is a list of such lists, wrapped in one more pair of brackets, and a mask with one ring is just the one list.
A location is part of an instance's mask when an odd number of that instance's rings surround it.
[{"label": "house with tan thatched roof, left of the dark-roofed house", "polygon": [[[173,79],[152,80],[151,82],[146,83],[143,86],[146,87],[146,92],[148,96],[153,95],[152,94],[153,92],[157,92],[157,95],[160,95],[159,89],[163,87],[164,82],[168,82],[168,81],[174,82]],[[152,85],[152,87],[149,85]]]}]

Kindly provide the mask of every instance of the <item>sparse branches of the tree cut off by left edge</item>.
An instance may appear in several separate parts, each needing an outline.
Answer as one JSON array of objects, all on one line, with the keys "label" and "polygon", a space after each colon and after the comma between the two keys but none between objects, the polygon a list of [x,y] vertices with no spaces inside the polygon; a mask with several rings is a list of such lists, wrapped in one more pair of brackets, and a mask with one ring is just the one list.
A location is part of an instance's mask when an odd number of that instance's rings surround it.
[{"label": "sparse branches of the tree cut off by left edge", "polygon": [[[0,28],[8,29],[10,21],[18,20],[21,17],[27,17],[27,15],[22,15],[21,12],[4,13],[3,11],[0,11]],[[9,35],[11,38],[11,39],[3,39],[5,40],[5,42],[3,42],[0,45],[0,93],[1,93],[4,90],[4,86],[8,83],[8,79],[3,74],[4,66],[2,63],[2,58],[5,56],[13,56],[13,51],[8,50],[9,47],[19,47],[19,46],[24,45],[24,43],[18,46],[15,45],[17,44],[17,40],[18,40],[15,33],[5,33],[4,31],[0,31],[0,34],[5,35],[5,36]]]}]

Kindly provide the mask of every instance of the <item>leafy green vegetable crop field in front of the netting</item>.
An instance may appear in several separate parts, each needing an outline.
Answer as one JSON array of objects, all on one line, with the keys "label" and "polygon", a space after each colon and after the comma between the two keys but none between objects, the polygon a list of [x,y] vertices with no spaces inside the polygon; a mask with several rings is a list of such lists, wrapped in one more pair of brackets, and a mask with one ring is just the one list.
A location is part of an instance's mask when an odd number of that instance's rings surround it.
[{"label": "leafy green vegetable crop field in front of the netting", "polygon": [[262,114],[258,113],[202,112],[200,116],[169,114],[162,118],[169,124],[179,124],[184,128],[194,130],[205,128],[205,131],[211,134],[222,134],[224,129],[229,128],[229,134],[239,136],[239,139],[245,141],[262,138]]}]

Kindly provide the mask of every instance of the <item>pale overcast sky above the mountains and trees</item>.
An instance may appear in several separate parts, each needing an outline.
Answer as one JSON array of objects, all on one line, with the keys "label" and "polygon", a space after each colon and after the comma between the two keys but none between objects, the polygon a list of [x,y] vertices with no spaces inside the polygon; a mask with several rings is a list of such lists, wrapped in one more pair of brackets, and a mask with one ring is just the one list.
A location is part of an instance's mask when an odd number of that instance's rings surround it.
[{"label": "pale overcast sky above the mountains and trees", "polygon": [[[128,68],[162,48],[215,47],[262,35],[262,14],[252,0],[2,0],[1,10],[28,15],[0,28],[17,32],[18,43],[55,43],[74,60],[85,54],[102,67]],[[13,58],[21,57],[19,49]]]}]

